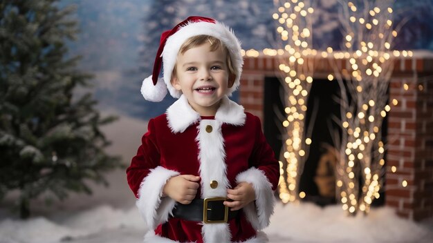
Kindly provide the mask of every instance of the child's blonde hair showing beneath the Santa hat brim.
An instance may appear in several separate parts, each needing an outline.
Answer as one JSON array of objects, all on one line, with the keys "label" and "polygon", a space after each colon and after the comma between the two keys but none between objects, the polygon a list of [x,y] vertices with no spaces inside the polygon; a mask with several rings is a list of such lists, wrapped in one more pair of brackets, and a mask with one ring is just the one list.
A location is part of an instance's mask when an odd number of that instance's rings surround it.
[{"label": "child's blonde hair showing beneath the Santa hat brim", "polygon": [[[224,45],[224,43],[218,38],[212,37],[210,35],[196,35],[194,37],[190,37],[182,44],[181,49],[179,49],[179,53],[185,54],[187,50],[190,50],[197,46],[201,46],[206,42],[210,43],[211,52],[214,52],[215,50],[222,48],[221,50],[223,50],[223,52],[225,53],[225,61],[227,62],[228,71],[229,71],[228,73],[229,75],[234,75],[235,72],[232,65],[230,52],[228,51],[228,48]],[[174,65],[173,68],[173,75],[176,75],[176,65]]]}]

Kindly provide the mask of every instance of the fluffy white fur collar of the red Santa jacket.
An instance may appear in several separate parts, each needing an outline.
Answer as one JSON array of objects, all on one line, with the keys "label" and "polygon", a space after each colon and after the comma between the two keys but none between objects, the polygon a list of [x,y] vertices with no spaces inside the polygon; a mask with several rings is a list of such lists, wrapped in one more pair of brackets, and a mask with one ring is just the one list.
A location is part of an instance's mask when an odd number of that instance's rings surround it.
[{"label": "fluffy white fur collar of the red Santa jacket", "polygon": [[[167,108],[167,120],[169,128],[173,133],[183,133],[186,128],[199,121],[200,115],[188,104],[185,95]],[[221,105],[216,111],[215,119],[225,124],[242,126],[245,124],[246,115],[243,106],[230,100],[227,96],[221,99]]]}]

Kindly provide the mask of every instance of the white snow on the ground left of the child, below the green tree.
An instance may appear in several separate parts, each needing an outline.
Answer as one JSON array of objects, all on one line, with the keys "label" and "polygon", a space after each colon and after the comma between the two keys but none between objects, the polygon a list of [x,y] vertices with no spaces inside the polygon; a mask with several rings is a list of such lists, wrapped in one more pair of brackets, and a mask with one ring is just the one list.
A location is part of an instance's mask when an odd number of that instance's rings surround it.
[{"label": "white snow on the ground left of the child, below the green tree", "polygon": [[[98,206],[81,213],[63,214],[57,219],[36,217],[30,220],[0,221],[1,243],[54,243],[74,242],[83,237],[100,237],[120,229],[143,231],[142,220],[136,208],[120,210],[111,206]],[[99,236],[99,235],[100,236]],[[140,237],[136,239],[140,242]],[[107,242],[107,241],[104,241]],[[113,237],[108,242],[119,242]]]}]

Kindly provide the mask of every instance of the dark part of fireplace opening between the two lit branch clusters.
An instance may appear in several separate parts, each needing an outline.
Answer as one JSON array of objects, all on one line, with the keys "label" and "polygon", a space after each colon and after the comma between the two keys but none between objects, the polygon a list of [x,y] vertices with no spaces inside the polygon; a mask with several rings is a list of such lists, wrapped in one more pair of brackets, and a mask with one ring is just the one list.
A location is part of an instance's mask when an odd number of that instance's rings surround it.
[{"label": "dark part of fireplace opening between the two lit branch clusters", "polygon": [[[340,89],[337,81],[313,79],[307,101],[304,132],[311,129],[311,144],[299,191],[304,201],[325,206],[335,203],[335,174],[337,163],[333,137],[340,137],[340,129],[333,117],[340,118],[340,105],[335,101]],[[339,139],[339,138],[337,138]]]}]

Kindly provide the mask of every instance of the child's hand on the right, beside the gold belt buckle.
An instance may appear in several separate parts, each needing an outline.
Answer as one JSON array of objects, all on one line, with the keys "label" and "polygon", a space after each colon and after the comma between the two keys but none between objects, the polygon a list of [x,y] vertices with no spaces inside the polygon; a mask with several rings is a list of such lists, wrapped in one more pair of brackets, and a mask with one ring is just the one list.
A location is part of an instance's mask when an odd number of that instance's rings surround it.
[{"label": "child's hand on the right, beside the gold belt buckle", "polygon": [[227,190],[227,197],[233,202],[225,201],[224,205],[229,206],[231,211],[239,210],[256,199],[256,193],[252,184],[241,182],[235,188]]}]

